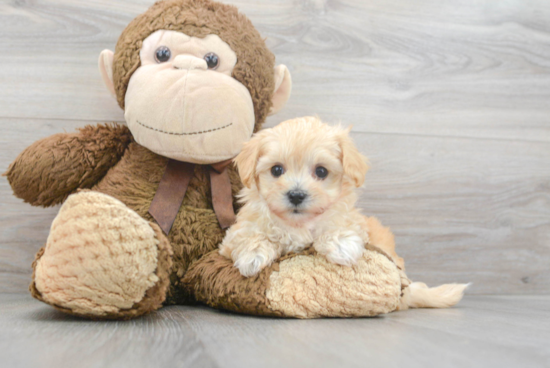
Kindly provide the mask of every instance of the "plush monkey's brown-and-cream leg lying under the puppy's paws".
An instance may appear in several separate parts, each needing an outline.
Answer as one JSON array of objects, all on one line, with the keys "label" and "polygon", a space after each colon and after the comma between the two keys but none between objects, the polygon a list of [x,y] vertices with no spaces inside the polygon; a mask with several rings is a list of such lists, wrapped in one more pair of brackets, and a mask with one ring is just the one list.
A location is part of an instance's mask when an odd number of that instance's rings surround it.
[{"label": "plush monkey's brown-and-cream leg lying under the puppy's paws", "polygon": [[253,277],[212,251],[185,274],[198,301],[238,313],[294,318],[364,317],[395,310],[402,279],[396,265],[366,250],[353,267],[333,264],[310,248],[287,255]]}]

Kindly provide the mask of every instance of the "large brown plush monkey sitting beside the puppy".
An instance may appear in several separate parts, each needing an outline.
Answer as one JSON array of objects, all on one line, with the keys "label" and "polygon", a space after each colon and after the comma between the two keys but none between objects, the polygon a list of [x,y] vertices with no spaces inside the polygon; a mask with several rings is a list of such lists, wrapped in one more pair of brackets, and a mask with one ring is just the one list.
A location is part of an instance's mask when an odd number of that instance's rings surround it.
[{"label": "large brown plush monkey sitting beside the puppy", "polygon": [[[406,277],[373,245],[354,268],[305,251],[252,278],[218,254],[241,187],[227,164],[291,87],[287,68],[274,66],[235,7],[157,2],[127,26],[114,54],[101,53],[99,65],[127,126],[42,139],[6,173],[26,202],[63,203],[33,264],[35,298],[115,319],[194,302],[304,318],[398,307]],[[393,242],[379,223],[371,231],[379,245]]]}]

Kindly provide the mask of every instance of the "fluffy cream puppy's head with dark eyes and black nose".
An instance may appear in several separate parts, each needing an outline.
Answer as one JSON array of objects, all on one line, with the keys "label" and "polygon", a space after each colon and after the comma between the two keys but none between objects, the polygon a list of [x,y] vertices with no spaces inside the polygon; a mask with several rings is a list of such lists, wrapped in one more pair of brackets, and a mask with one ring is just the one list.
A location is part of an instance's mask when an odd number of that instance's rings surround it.
[{"label": "fluffy cream puppy's head with dark eyes and black nose", "polygon": [[235,158],[241,180],[272,213],[301,226],[363,184],[366,159],[348,133],[314,117],[260,131]]}]

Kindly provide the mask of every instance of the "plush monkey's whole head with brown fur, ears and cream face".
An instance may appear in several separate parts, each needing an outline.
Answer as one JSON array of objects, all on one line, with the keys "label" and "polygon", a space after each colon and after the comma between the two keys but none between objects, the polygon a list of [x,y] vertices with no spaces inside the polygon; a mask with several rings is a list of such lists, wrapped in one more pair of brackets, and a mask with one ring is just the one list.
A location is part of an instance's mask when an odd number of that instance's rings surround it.
[{"label": "plush monkey's whole head with brown fur, ears and cream face", "polygon": [[[153,32],[153,33],[152,33]],[[157,1],[122,32],[99,69],[134,139],[198,164],[235,157],[292,87],[252,23],[210,0]]]}]

